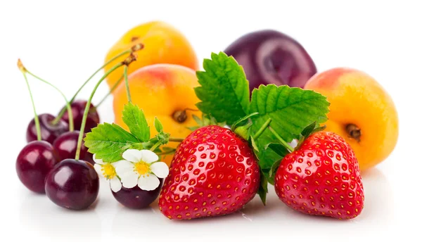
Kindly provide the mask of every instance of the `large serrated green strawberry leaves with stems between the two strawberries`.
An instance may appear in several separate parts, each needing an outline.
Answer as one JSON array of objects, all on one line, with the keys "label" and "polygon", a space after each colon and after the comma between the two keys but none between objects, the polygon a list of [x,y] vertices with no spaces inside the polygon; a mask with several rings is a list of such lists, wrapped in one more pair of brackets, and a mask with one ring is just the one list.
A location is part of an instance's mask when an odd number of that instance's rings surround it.
[{"label": "large serrated green strawberry leaves with stems between the two strawberries", "polygon": [[[280,160],[293,151],[287,143],[301,141],[325,122],[329,103],[311,90],[274,84],[254,89],[250,98],[243,68],[222,52],[212,53],[203,66],[205,71],[197,72],[200,87],[195,92],[201,100],[197,106],[249,141],[260,164],[258,194],[265,202],[267,182],[274,184]],[[280,142],[283,144],[277,144]]]}]

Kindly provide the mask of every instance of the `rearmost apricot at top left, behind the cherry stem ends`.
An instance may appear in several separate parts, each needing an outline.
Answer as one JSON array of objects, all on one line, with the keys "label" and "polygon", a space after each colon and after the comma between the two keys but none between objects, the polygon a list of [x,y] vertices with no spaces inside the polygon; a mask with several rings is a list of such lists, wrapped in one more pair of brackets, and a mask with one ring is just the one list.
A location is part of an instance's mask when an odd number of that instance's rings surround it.
[{"label": "rearmost apricot at top left, behind the cherry stem ends", "polygon": [[[144,23],[126,32],[108,51],[105,62],[139,43],[142,43],[144,47],[141,51],[137,51],[138,59],[130,65],[129,74],[143,66],[158,63],[184,65],[187,68],[198,70],[198,58],[196,58],[196,53],[188,39],[176,28],[160,21]],[[113,65],[123,61],[126,57],[117,58],[104,70],[110,70]],[[108,75],[109,86],[113,87],[122,75],[123,68]]]}]

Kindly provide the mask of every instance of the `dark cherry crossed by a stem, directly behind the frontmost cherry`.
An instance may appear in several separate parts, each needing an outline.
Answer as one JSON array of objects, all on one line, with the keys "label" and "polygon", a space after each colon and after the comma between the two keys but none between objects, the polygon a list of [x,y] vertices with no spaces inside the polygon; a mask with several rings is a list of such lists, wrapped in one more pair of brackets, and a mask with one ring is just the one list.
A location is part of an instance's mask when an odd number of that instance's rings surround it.
[{"label": "dark cherry crossed by a stem, directly behind the frontmost cherry", "polygon": [[[66,132],[58,137],[53,142],[54,152],[58,157],[58,160],[65,160],[68,158],[75,158],[77,139],[79,138],[79,131]],[[79,153],[79,159],[85,160],[91,164],[94,164],[92,154],[88,152],[88,148],[84,146],[82,142],[81,152]]]}]

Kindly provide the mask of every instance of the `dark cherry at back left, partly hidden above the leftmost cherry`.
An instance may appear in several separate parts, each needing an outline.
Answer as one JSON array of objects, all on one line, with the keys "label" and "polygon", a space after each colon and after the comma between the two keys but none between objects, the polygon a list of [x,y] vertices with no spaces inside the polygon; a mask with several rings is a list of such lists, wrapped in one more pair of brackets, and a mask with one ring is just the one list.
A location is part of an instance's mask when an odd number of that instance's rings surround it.
[{"label": "dark cherry at back left, partly hidden above the leftmost cherry", "polygon": [[[60,120],[56,125],[53,125],[54,115],[41,114],[38,115],[39,127],[41,129],[41,139],[53,144],[60,134],[69,130],[68,123]],[[37,127],[35,127],[35,120],[32,119],[27,127],[27,142],[37,140]]]}]

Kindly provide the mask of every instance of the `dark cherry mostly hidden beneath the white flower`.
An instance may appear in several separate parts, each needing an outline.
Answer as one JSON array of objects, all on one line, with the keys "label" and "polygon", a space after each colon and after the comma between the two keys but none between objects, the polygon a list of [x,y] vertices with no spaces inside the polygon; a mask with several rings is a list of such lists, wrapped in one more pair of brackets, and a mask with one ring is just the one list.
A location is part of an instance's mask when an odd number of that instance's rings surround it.
[{"label": "dark cherry mostly hidden beneath the white flower", "polygon": [[145,191],[136,186],[131,189],[122,187],[120,191],[112,191],[112,193],[115,199],[127,208],[146,208],[151,205],[160,194],[162,180],[163,179],[160,179],[160,185],[152,191]]}]

